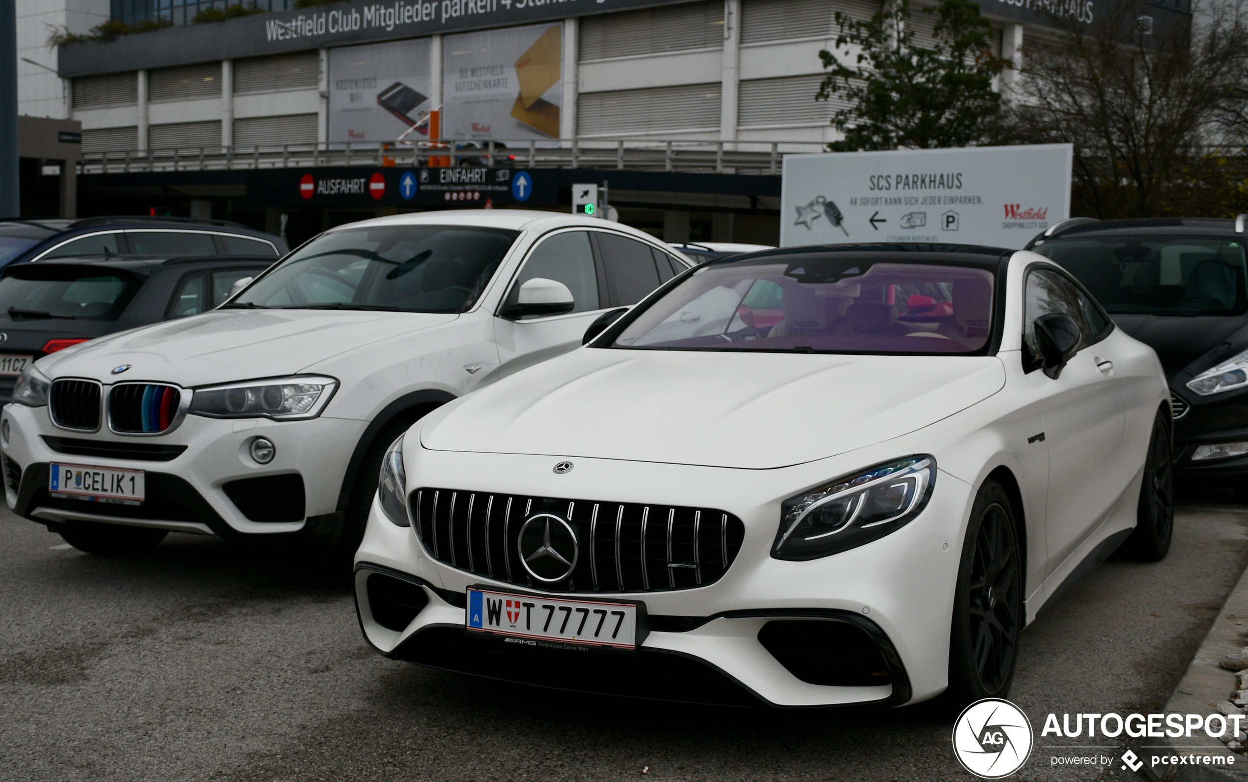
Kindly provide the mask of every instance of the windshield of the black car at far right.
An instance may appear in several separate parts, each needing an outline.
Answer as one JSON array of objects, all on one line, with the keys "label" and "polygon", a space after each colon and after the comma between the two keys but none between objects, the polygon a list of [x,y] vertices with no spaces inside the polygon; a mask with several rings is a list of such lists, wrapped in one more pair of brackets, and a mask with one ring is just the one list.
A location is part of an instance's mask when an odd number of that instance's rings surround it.
[{"label": "windshield of the black car at far right", "polygon": [[1056,239],[1036,246],[1107,311],[1241,315],[1248,310],[1243,244],[1193,236]]}]

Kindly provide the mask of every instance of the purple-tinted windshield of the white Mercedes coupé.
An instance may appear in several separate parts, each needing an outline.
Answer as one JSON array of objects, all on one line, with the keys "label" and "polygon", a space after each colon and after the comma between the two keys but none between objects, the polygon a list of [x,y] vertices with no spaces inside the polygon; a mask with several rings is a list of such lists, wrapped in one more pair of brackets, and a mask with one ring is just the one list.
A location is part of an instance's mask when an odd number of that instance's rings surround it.
[{"label": "purple-tinted windshield of the white Mercedes coup\u00e9", "polygon": [[613,347],[973,354],[992,329],[993,274],[905,256],[764,256],[704,266]]}]

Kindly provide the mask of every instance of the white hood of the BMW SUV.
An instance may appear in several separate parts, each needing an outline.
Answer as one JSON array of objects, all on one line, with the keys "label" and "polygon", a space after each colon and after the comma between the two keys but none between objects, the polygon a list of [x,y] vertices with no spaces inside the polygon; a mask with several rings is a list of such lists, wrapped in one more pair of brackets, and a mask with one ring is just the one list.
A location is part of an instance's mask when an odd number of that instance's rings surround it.
[{"label": "white hood of the BMW SUV", "polygon": [[293,375],[361,345],[454,320],[423,312],[216,310],[70,347],[39,361],[51,379],[124,380],[185,387]]}]

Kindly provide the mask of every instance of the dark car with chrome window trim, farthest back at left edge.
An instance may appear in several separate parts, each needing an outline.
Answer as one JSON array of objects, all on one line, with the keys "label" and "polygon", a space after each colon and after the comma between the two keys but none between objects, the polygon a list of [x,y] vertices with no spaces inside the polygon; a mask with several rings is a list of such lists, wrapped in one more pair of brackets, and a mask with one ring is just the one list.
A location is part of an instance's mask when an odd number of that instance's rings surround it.
[{"label": "dark car with chrome window trim, farthest back at left edge", "polygon": [[290,247],[281,237],[225,220],[0,220],[0,267],[89,255],[242,255],[278,259],[287,252]]}]

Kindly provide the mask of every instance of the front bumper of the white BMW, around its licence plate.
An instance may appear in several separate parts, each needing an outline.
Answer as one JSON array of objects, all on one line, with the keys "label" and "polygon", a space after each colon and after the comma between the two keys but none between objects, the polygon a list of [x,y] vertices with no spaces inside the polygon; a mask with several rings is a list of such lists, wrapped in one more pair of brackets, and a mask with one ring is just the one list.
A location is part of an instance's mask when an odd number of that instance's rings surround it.
[{"label": "front bumper of the white BMW, around its licence plate", "polygon": [[[0,411],[5,501],[17,515],[56,526],[104,522],[240,537],[341,525],[338,495],[351,451],[367,422],[187,416],[158,437],[77,432],[52,425],[47,407],[9,403]],[[258,436],[277,446],[272,462],[248,455]],[[52,497],[50,462],[142,470],[141,506]],[[326,530],[327,533],[333,531]]]}]

